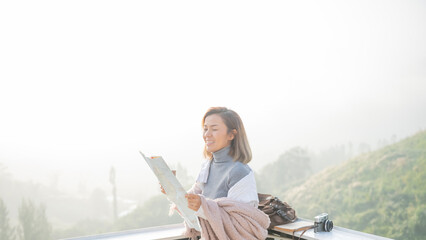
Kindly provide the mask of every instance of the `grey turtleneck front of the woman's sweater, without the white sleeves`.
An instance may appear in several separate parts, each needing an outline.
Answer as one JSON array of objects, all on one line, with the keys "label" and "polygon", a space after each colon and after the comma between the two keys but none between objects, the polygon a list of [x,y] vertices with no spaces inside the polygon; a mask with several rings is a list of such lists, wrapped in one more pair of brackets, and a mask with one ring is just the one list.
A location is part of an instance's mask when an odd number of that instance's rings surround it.
[{"label": "grey turtleneck front of the woman's sweater, without the white sleeves", "polygon": [[209,176],[202,192],[207,198],[227,197],[229,189],[251,171],[247,164],[235,162],[229,156],[229,150],[230,146],[213,153]]}]

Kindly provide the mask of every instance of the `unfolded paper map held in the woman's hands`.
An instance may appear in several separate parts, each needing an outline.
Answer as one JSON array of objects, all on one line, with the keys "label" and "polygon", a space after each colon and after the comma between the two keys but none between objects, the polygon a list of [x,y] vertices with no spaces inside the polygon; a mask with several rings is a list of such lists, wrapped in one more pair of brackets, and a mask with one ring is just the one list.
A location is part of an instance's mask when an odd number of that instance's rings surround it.
[{"label": "unfolded paper map held in the woman's hands", "polygon": [[[140,152],[140,151],[139,151]],[[148,163],[151,170],[157,176],[161,186],[167,193],[167,197],[170,201],[176,204],[179,209],[180,215],[185,220],[186,224],[190,228],[194,228],[197,231],[201,231],[198,217],[195,215],[195,211],[188,208],[188,201],[185,198],[186,191],[173,175],[167,163],[162,157],[146,157],[140,152],[142,157]]]}]

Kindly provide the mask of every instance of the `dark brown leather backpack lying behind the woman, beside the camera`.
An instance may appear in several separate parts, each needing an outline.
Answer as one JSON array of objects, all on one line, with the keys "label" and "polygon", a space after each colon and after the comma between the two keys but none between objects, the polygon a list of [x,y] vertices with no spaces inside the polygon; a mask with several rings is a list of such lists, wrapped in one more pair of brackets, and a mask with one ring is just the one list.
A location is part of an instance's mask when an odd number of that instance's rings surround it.
[{"label": "dark brown leather backpack lying behind the woman, beside the camera", "polygon": [[268,215],[271,220],[268,229],[296,221],[296,211],[288,203],[282,202],[270,194],[258,193],[257,195],[259,197],[259,210]]}]

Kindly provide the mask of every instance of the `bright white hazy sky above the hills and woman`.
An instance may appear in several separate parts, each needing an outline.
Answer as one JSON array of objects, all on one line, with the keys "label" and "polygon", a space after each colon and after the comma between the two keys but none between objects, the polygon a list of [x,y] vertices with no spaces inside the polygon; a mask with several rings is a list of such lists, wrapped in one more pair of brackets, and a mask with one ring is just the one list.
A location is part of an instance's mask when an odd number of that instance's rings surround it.
[{"label": "bright white hazy sky above the hills and woman", "polygon": [[375,147],[426,127],[425,43],[424,1],[1,1],[0,163],[156,189],[138,150],[195,176],[210,106],[241,115],[255,169]]}]

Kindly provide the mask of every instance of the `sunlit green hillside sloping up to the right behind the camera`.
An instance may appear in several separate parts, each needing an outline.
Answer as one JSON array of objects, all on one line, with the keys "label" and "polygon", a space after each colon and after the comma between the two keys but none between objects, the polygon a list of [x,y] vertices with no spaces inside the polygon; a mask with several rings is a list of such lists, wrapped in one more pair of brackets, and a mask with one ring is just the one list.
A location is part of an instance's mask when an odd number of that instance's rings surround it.
[{"label": "sunlit green hillside sloping up to the right behind the camera", "polygon": [[426,131],[310,177],[282,196],[300,217],[395,239],[426,239]]}]

